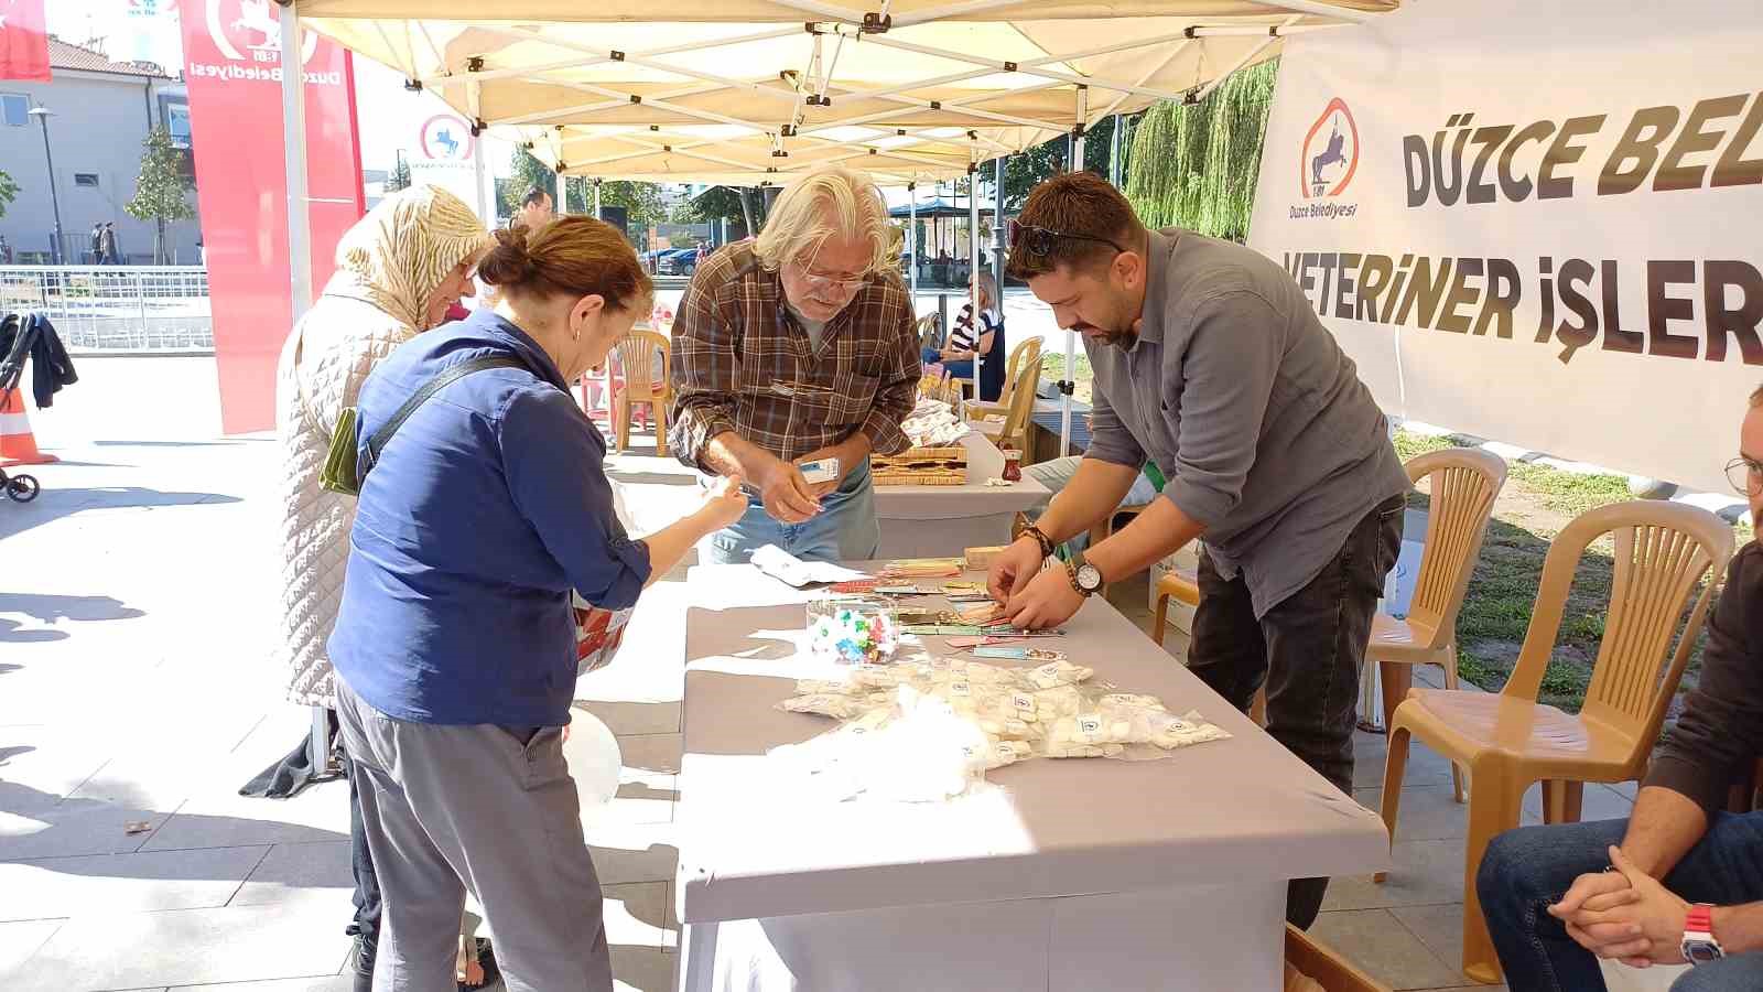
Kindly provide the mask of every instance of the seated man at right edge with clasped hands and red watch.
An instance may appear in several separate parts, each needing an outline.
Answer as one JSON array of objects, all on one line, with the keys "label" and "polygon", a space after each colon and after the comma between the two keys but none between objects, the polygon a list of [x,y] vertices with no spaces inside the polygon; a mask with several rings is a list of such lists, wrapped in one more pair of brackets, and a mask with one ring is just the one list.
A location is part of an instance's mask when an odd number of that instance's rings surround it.
[{"label": "seated man at right edge with clasped hands and red watch", "polygon": [[[1728,473],[1763,510],[1763,388]],[[1696,969],[1671,992],[1763,988],[1763,812],[1722,812],[1763,752],[1763,551],[1733,558],[1701,680],[1624,821],[1530,826],[1488,845],[1476,879],[1513,992],[1604,988],[1596,957]]]}]

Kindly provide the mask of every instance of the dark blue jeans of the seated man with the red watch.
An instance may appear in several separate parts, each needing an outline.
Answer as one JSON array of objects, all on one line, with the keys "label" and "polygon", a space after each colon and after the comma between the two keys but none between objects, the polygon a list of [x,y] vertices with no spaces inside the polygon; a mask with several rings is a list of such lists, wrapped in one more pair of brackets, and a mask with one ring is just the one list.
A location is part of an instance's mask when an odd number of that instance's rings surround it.
[{"label": "dark blue jeans of the seated man with the red watch", "polygon": [[[1488,844],[1476,874],[1481,911],[1513,992],[1596,992],[1604,988],[1597,958],[1546,913],[1580,876],[1610,865],[1629,821],[1525,826]],[[1763,898],[1763,812],[1719,814],[1664,886],[1689,902],[1733,906]],[[1685,973],[1671,992],[1754,992],[1763,988],[1763,953],[1735,955]]]}]

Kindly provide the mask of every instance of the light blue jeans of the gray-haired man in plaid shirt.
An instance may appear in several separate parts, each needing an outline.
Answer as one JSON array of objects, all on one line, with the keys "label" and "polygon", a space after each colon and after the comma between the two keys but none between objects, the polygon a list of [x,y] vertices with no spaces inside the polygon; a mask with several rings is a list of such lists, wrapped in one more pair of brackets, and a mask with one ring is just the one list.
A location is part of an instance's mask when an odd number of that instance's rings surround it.
[{"label": "light blue jeans of the gray-haired man in plaid shirt", "polygon": [[866,561],[882,547],[869,459],[846,475],[837,489],[822,496],[820,514],[800,524],[774,519],[758,494],[749,492],[749,498],[748,512],[733,526],[710,535],[707,561],[746,565],[767,544],[776,544],[802,561]]}]

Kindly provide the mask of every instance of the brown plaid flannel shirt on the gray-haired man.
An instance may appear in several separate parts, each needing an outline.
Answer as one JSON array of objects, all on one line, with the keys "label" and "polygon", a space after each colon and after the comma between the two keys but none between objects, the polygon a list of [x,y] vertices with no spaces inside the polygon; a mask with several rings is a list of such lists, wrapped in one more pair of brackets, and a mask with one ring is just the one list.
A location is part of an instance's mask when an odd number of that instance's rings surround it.
[{"label": "brown plaid flannel shirt on the gray-haired man", "polygon": [[723,431],[795,461],[869,436],[876,454],[911,441],[899,429],[919,395],[911,298],[882,272],[830,321],[813,349],[785,307],[783,281],[751,244],[698,267],[673,321],[673,425],[679,461],[707,468],[703,448]]}]

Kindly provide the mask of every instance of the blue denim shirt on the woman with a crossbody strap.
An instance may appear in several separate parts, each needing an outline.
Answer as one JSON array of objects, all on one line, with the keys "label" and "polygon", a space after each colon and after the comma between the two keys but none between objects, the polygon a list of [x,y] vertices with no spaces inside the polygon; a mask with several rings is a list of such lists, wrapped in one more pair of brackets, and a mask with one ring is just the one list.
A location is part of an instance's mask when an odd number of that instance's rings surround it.
[{"label": "blue denim shirt on the woman with a crossbody strap", "polygon": [[360,443],[439,371],[487,355],[525,367],[444,387],[363,482],[331,664],[398,720],[562,725],[575,688],[569,590],[633,605],[649,547],[619,524],[606,441],[557,365],[520,328],[476,311],[374,369],[356,404]]}]

